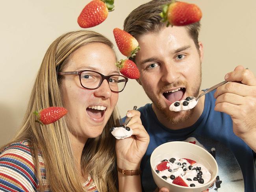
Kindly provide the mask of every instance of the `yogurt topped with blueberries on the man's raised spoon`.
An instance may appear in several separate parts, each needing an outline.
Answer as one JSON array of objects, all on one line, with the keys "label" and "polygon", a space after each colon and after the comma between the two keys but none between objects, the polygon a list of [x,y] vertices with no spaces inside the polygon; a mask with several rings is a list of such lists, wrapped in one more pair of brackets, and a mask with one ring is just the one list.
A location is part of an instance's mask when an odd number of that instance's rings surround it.
[{"label": "yogurt topped with blueberries on the man's raised spoon", "polygon": [[197,105],[195,97],[187,97],[184,100],[176,101],[172,103],[169,107],[170,111],[187,111],[193,109]]}]

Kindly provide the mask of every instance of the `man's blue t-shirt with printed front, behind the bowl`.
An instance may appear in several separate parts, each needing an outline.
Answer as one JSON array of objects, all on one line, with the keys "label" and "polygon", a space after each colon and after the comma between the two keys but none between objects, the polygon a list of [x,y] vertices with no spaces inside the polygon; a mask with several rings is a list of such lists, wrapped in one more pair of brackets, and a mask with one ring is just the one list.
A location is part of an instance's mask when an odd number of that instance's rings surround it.
[{"label": "man's blue t-shirt with printed front, behind the bowl", "polygon": [[141,161],[141,182],[145,192],[156,189],[150,155],[165,142],[187,141],[208,150],[215,157],[219,174],[210,191],[256,192],[255,153],[233,132],[228,114],[214,111],[214,92],[205,96],[204,111],[193,126],[172,130],[163,126],[152,109],[152,104],[140,107],[141,121],[150,136],[147,151]]}]

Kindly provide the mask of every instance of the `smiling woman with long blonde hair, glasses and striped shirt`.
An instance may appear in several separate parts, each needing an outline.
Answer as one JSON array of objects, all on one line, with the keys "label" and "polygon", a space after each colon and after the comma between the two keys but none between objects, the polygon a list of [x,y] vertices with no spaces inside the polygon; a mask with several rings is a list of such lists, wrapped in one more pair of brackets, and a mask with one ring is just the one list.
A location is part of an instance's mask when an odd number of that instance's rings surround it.
[{"label": "smiling woman with long blonde hair, glasses and striped shirt", "polygon": [[[132,137],[115,144],[109,132],[119,126],[115,105],[128,81],[116,60],[113,44],[93,31],[65,33],[50,45],[19,132],[0,148],[0,191],[141,190],[139,175],[115,168],[138,170],[149,142],[138,111],[128,113]],[[68,114],[53,124],[35,122],[33,111],[50,106]]]}]

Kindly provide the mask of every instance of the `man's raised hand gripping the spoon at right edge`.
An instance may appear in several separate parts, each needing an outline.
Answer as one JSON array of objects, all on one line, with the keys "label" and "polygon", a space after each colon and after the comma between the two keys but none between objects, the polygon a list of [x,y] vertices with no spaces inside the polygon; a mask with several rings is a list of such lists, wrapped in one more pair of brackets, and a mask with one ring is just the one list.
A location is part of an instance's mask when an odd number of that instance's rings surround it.
[{"label": "man's raised hand gripping the spoon at right edge", "polygon": [[217,88],[215,111],[229,114],[234,133],[256,151],[256,78],[243,66],[225,76],[231,81]]}]

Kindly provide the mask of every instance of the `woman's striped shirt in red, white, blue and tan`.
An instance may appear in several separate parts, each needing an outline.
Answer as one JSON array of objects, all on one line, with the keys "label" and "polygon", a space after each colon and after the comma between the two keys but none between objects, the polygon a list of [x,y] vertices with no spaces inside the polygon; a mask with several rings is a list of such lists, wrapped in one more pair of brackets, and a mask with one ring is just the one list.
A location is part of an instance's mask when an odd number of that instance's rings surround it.
[{"label": "woman's striped shirt in red, white, blue and tan", "polygon": [[[41,154],[38,154],[38,159],[43,185],[46,185],[45,164]],[[98,192],[90,176],[82,186],[87,191]],[[37,192],[38,189],[39,181],[28,142],[13,143],[0,151],[0,192]]]}]

